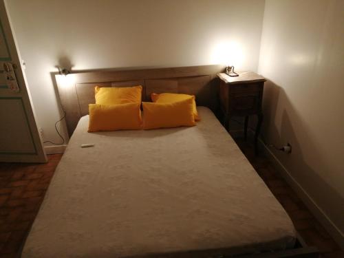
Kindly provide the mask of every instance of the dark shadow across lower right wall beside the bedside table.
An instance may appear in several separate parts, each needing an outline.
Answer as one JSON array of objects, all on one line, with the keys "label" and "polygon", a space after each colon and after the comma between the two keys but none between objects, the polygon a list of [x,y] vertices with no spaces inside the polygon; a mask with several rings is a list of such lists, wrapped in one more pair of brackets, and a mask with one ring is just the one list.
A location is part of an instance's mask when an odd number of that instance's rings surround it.
[{"label": "dark shadow across lower right wall beside the bedside table", "polygon": [[[278,121],[275,120],[278,116],[277,109],[281,109],[281,105],[283,105],[281,122],[277,124]],[[323,156],[316,149],[314,141],[304,127],[303,120],[290,103],[284,89],[270,80],[264,85],[263,112],[262,138],[264,142],[267,146],[269,144],[280,146],[287,142],[292,145],[290,154],[275,149],[272,149],[272,152],[343,233],[344,199],[319,175],[319,172],[326,175],[327,171],[316,172],[307,164],[307,160],[314,161],[314,164],[315,162],[325,164],[325,162],[322,162]]]}]

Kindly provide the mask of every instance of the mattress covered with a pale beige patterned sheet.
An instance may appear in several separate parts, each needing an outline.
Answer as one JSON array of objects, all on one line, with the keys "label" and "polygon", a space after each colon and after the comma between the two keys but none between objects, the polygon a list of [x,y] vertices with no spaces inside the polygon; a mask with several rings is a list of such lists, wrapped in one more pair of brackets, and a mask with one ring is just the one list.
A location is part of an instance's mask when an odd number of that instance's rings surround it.
[{"label": "mattress covered with a pale beige patterned sheet", "polygon": [[286,211],[211,110],[198,111],[195,127],[149,131],[87,133],[81,118],[22,257],[290,248],[296,233]]}]

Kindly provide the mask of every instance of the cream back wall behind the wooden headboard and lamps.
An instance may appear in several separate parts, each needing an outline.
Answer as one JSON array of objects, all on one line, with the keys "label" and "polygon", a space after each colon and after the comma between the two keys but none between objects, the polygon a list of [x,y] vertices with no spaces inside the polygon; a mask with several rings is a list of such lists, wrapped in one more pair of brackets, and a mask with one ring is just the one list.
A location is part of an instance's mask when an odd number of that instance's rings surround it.
[{"label": "cream back wall behind the wooden headboard and lamps", "polygon": [[256,71],[264,0],[10,0],[39,127],[58,142],[50,73],[229,63]]}]

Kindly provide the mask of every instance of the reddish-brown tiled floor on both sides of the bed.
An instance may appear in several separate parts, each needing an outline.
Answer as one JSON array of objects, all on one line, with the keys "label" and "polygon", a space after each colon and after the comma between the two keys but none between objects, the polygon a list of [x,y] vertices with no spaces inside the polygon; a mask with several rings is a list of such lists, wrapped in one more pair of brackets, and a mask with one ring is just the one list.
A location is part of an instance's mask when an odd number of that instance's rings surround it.
[{"label": "reddish-brown tiled floor on both sides of the bed", "polygon": [[[237,140],[239,147],[286,209],[295,227],[323,257],[344,257],[326,230],[310,214],[263,157],[255,157],[252,146]],[[47,164],[0,163],[0,257],[16,257],[34,221],[61,155],[49,155]]]}]

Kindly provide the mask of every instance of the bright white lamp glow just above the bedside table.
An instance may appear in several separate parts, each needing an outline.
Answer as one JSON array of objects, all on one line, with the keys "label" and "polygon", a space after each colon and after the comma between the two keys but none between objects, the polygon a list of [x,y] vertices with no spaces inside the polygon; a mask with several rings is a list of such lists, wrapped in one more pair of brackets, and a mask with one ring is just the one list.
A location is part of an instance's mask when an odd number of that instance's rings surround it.
[{"label": "bright white lamp glow just above the bedside table", "polygon": [[219,41],[211,50],[211,63],[219,65],[234,65],[241,68],[244,65],[244,51],[238,41]]}]

